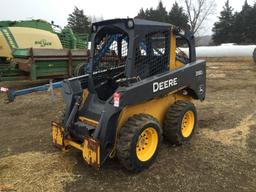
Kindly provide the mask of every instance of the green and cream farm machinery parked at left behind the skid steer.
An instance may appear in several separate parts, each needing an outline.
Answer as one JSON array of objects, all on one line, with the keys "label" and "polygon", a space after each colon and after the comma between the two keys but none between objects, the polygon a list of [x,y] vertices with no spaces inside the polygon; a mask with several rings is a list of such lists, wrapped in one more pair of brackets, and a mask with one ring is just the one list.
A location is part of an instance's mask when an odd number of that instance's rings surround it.
[{"label": "green and cream farm machinery parked at left behind the skid steer", "polygon": [[0,81],[67,78],[89,59],[88,34],[43,20],[0,21]]}]

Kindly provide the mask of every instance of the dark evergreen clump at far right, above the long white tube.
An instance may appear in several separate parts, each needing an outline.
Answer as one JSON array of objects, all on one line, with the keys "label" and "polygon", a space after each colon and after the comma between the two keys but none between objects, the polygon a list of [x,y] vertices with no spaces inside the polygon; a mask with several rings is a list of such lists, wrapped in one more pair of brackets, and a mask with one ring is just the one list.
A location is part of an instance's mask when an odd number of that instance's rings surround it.
[{"label": "dark evergreen clump at far right, above the long white tube", "polygon": [[234,12],[229,4],[225,2],[220,12],[219,21],[214,23],[213,42],[255,44],[256,43],[256,3],[250,6],[245,0],[242,10]]}]

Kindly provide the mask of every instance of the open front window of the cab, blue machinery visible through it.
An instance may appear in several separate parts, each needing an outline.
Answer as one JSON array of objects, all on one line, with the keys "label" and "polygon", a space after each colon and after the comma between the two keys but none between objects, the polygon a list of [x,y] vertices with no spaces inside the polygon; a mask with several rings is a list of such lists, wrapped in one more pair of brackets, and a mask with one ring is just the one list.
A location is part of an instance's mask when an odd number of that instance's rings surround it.
[{"label": "open front window of the cab, blue machinery visible through it", "polygon": [[95,37],[93,71],[125,65],[128,55],[128,35],[120,30],[99,33]]}]

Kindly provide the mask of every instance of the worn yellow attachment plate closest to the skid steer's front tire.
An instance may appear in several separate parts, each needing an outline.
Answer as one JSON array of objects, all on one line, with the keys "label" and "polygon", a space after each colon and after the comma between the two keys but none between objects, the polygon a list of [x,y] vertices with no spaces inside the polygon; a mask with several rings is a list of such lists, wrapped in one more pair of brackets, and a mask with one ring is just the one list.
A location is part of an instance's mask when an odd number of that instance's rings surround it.
[{"label": "worn yellow attachment plate closest to the skid steer's front tire", "polygon": [[83,146],[84,160],[91,166],[100,168],[100,144],[96,140],[86,137]]}]

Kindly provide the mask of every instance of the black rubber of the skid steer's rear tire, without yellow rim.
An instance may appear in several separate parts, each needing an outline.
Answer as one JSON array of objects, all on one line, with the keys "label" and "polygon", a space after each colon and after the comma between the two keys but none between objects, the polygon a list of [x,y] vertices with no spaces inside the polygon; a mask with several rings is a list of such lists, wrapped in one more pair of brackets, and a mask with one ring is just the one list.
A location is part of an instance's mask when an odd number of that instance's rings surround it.
[{"label": "black rubber of the skid steer's rear tire, without yellow rim", "polygon": [[[194,127],[188,137],[182,134],[182,119],[187,111],[194,113]],[[164,139],[175,145],[182,145],[188,142],[193,136],[197,127],[197,112],[193,103],[178,100],[171,105],[166,113],[164,121]]]}]

